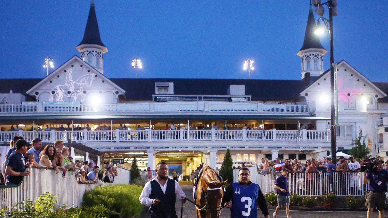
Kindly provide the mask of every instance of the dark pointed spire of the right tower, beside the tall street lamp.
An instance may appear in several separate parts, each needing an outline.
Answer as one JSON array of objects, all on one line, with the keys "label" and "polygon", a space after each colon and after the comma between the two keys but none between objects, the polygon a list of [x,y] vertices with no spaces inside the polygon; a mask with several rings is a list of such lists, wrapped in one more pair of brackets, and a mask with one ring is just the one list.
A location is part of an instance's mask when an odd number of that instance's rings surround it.
[{"label": "dark pointed spire of the right tower, beside the tall street lamp", "polygon": [[310,10],[308,11],[308,19],[307,19],[307,26],[306,26],[306,32],[305,32],[305,41],[303,42],[303,46],[300,50],[305,50],[308,48],[325,49],[320,44],[319,36],[314,33],[315,27],[316,27],[316,24],[315,24],[314,13],[310,3]]}]

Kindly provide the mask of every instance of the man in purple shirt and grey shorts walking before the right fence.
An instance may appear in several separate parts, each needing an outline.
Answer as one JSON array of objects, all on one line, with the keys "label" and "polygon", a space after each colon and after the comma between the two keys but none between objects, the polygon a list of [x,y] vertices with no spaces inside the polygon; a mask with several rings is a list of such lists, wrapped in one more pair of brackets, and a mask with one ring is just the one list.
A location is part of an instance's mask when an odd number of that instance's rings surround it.
[{"label": "man in purple shirt and grey shorts walking before the right fence", "polygon": [[287,218],[290,218],[290,198],[289,198],[289,191],[288,191],[288,170],[283,169],[282,170],[282,175],[277,177],[275,181],[275,188],[276,188],[276,193],[277,193],[277,206],[274,212],[273,218],[276,218],[277,211],[281,208],[281,206],[284,204],[286,206],[286,215]]}]

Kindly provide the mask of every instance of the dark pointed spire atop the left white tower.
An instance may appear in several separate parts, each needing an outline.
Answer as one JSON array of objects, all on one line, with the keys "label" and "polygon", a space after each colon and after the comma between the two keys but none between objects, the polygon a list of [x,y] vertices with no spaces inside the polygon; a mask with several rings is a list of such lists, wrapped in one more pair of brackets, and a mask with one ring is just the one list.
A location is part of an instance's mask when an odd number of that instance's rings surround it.
[{"label": "dark pointed spire atop the left white tower", "polygon": [[85,33],[79,45],[83,44],[100,45],[106,47],[104,43],[101,42],[100,31],[98,29],[97,16],[94,10],[93,0],[90,4],[89,16],[88,21],[86,23]]}]

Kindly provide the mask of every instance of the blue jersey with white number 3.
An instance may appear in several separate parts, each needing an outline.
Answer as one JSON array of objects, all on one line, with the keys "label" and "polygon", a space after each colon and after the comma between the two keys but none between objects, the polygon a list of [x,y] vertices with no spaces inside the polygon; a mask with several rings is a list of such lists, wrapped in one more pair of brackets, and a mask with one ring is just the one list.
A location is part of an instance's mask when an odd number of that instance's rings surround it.
[{"label": "blue jersey with white number 3", "polygon": [[232,183],[233,197],[230,217],[233,218],[257,218],[257,196],[259,185],[240,185]]}]

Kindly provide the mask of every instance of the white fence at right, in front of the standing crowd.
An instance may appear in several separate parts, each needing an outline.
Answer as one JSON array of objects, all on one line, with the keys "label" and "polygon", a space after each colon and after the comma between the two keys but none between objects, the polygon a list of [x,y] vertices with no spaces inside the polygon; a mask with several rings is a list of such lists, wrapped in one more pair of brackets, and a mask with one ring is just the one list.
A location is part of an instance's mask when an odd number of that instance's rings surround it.
[{"label": "white fence at right, in front of the standing crowd", "polygon": [[[268,173],[262,175],[257,172],[256,166],[249,167],[251,182],[258,183],[263,194],[276,193],[275,180],[281,173]],[[237,181],[238,170],[233,170],[234,180]],[[288,173],[290,194],[299,196],[324,196],[334,192],[336,196],[363,196],[368,190],[368,185],[362,183],[364,172],[326,172],[326,173]]]}]

